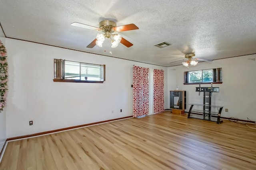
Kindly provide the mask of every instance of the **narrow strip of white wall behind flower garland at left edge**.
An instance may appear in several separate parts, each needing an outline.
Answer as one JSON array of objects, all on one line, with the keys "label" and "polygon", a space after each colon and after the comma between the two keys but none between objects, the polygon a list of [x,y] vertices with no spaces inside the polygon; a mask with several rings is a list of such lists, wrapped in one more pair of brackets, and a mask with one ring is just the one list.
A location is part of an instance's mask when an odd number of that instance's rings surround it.
[{"label": "narrow strip of white wall behind flower garland at left edge", "polygon": [[[1,31],[2,29],[0,29],[0,32]],[[5,38],[0,37],[0,40],[5,45]],[[7,52],[8,52],[8,49],[7,49]],[[5,141],[6,141],[6,108],[4,108],[4,111],[0,113],[0,151],[3,148]]]}]

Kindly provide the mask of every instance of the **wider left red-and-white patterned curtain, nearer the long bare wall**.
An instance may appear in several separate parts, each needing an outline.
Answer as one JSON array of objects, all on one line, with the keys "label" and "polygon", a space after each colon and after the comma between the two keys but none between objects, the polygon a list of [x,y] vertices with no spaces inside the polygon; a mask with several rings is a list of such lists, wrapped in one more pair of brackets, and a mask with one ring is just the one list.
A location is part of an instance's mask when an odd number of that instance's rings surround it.
[{"label": "wider left red-and-white patterned curtain, nearer the long bare wall", "polygon": [[149,68],[133,67],[133,117],[148,114]]}]

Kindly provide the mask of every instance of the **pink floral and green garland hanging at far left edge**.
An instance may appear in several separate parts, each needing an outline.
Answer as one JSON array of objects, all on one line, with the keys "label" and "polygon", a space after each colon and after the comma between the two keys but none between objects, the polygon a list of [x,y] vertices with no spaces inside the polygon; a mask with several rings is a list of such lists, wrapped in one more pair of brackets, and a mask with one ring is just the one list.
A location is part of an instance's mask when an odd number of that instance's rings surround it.
[{"label": "pink floral and green garland hanging at far left edge", "polygon": [[6,61],[6,49],[0,40],[0,112],[6,104],[7,82],[8,82],[8,63]]}]

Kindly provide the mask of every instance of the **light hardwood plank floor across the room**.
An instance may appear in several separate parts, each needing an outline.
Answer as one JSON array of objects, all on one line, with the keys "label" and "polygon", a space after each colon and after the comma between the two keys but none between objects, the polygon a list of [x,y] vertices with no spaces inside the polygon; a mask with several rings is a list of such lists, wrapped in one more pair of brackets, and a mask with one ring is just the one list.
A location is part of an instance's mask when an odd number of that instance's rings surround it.
[{"label": "light hardwood plank floor across the room", "polygon": [[103,169],[255,170],[256,129],[165,111],[12,141],[0,164],[0,170]]}]

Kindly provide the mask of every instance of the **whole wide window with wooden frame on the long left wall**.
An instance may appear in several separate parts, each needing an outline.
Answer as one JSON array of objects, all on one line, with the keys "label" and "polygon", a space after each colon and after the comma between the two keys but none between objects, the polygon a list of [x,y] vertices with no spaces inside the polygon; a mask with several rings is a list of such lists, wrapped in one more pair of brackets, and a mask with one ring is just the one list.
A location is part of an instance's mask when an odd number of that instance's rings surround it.
[{"label": "whole wide window with wooden frame on the long left wall", "polygon": [[105,65],[54,59],[54,82],[103,83]]}]

